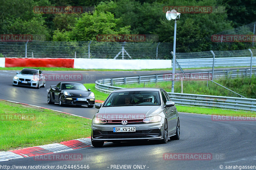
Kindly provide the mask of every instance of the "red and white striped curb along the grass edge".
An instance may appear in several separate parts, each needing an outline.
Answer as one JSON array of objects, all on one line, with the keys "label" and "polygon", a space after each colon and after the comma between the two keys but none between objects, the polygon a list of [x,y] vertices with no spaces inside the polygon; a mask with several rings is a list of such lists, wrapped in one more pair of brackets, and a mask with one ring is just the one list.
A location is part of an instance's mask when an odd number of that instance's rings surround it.
[{"label": "red and white striped curb along the grass edge", "polygon": [[11,159],[19,159],[64,151],[71,151],[74,149],[81,149],[89,146],[92,146],[91,137],[74,139],[55,144],[46,144],[0,152],[0,161],[8,161]]}]

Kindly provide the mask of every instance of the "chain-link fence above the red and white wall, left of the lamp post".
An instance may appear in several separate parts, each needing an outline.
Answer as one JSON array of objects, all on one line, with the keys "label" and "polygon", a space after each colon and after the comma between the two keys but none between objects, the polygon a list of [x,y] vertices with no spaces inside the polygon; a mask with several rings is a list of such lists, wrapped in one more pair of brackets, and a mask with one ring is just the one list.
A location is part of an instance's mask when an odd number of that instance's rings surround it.
[{"label": "chain-link fence above the red and white wall, left of the lamp post", "polygon": [[172,43],[160,42],[0,42],[2,57],[19,58],[172,59],[172,48]]}]

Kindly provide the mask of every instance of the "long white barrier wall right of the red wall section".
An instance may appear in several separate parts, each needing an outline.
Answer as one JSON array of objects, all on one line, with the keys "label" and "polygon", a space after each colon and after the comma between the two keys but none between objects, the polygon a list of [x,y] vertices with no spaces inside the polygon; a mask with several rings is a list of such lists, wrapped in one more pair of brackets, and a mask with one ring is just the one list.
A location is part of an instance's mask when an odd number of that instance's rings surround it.
[{"label": "long white barrier wall right of the red wall section", "polygon": [[172,68],[172,60],[116,60],[75,58],[76,69],[165,69]]}]

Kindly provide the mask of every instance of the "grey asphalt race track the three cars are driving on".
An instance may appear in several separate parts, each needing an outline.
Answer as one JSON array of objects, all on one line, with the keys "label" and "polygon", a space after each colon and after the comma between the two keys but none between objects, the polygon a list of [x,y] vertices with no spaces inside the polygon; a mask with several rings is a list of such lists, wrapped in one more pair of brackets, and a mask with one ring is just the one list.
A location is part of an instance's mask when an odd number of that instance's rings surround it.
[{"label": "grey asphalt race track the three cars are driving on", "polygon": [[[50,73],[45,71],[44,73]],[[67,73],[67,72],[65,72]],[[71,72],[69,72],[71,73]],[[72,72],[74,73],[74,72]],[[96,79],[122,77],[132,75],[160,74],[167,71],[154,72],[79,72],[84,75],[94,75]],[[50,85],[56,85],[56,81],[46,82],[46,88],[32,89],[26,87],[13,87],[12,77],[15,71],[0,71],[0,99],[18,101],[22,103],[47,107],[63,112],[68,112],[84,117],[92,118],[97,111],[87,107],[59,107],[48,105],[46,102],[46,89]],[[212,121],[211,115],[197,115],[180,113],[180,140],[167,144],[149,142],[140,143],[105,143],[103,148],[87,147],[65,154],[82,154],[81,161],[38,161],[33,157],[14,159],[0,162],[0,165],[24,165],[24,166],[63,166],[63,165],[89,165],[89,169],[125,169],[124,165],[131,165],[130,169],[231,169],[228,166],[256,166],[256,123],[244,121]],[[170,159],[165,153],[177,153],[189,155],[212,155],[211,159],[203,160],[164,160]],[[174,156],[173,156],[174,158]],[[175,158],[174,158],[175,159]],[[118,166],[117,166],[118,165]],[[139,165],[139,166],[137,166]],[[141,166],[142,165],[142,166]],[[120,168],[123,166],[123,168]],[[227,167],[226,167],[227,166]],[[116,168],[114,168],[116,167]],[[242,167],[241,167],[242,168]],[[56,168],[55,168],[56,169]],[[74,168],[67,168],[74,169]],[[77,169],[77,168],[76,168]],[[81,169],[81,168],[80,168]],[[129,169],[126,167],[126,169]],[[232,168],[234,169],[234,168]],[[248,168],[247,168],[248,169]]]}]

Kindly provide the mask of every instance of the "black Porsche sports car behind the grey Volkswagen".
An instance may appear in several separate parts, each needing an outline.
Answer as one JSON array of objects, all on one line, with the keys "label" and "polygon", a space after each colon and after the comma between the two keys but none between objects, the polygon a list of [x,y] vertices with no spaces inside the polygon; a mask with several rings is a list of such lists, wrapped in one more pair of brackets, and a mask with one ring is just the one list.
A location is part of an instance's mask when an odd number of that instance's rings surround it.
[{"label": "black Porsche sports car behind the grey Volkswagen", "polygon": [[60,106],[69,104],[93,107],[95,97],[91,89],[86,89],[81,83],[60,82],[58,85],[53,85],[49,89],[47,103],[59,103]]}]

